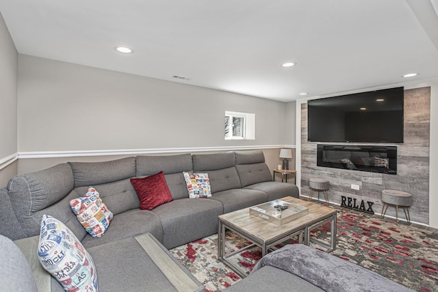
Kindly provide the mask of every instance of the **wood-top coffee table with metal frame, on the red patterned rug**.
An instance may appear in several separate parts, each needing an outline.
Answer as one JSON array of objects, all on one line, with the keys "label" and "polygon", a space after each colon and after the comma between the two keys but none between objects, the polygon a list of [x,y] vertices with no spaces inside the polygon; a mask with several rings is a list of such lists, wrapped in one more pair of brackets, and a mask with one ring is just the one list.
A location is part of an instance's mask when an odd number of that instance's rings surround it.
[{"label": "wood-top coffee table with metal frame, on the red patterned rug", "polygon": [[[292,239],[292,237],[298,235],[300,243],[304,243],[305,245],[309,245],[309,241],[311,241],[312,243],[326,248],[327,252],[335,250],[336,248],[336,209],[293,197],[285,197],[281,198],[280,200],[298,204],[302,207],[307,207],[309,209],[309,213],[281,226],[263,220],[254,215],[250,215],[249,208],[219,215],[218,259],[233,269],[233,271],[235,271],[242,278],[246,277],[247,275],[241,271],[239,267],[231,263],[228,258],[236,253],[240,253],[243,250],[251,248],[254,245],[257,245],[261,248],[261,255],[264,256],[270,248],[274,247],[274,245],[283,243],[284,241]],[[318,239],[309,238],[311,230],[327,222],[331,223],[330,245]],[[231,230],[234,233],[237,233],[237,235],[244,237],[244,239],[248,239],[248,241],[253,242],[253,245],[249,245],[243,250],[225,254],[226,230]]]}]

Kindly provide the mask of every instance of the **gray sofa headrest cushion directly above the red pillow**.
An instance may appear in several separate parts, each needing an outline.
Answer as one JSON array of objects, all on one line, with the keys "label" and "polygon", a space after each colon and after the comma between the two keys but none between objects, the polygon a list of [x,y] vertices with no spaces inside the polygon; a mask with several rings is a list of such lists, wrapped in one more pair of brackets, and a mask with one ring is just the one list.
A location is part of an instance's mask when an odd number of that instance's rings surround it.
[{"label": "gray sofa headrest cushion directly above the red pillow", "polygon": [[139,155],[137,161],[137,176],[150,176],[157,172],[174,174],[192,170],[192,155]]}]

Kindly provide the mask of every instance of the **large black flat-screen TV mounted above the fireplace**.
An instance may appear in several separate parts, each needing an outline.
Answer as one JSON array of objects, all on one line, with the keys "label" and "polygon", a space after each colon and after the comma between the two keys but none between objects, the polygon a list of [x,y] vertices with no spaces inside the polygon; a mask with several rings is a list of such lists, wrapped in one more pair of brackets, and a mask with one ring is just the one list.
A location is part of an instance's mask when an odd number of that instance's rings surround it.
[{"label": "large black flat-screen TV mounted above the fireplace", "polygon": [[400,87],[308,101],[308,140],[402,143],[403,97]]}]

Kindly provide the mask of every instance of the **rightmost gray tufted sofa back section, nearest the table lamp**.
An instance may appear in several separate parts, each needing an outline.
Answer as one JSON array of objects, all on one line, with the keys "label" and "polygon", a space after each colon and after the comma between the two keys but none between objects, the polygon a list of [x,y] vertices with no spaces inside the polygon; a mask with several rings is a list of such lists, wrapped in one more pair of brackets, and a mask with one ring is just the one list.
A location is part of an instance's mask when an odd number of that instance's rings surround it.
[{"label": "rightmost gray tufted sofa back section, nearest the table lamp", "polygon": [[261,150],[235,151],[235,168],[242,187],[272,181],[265,156]]}]

